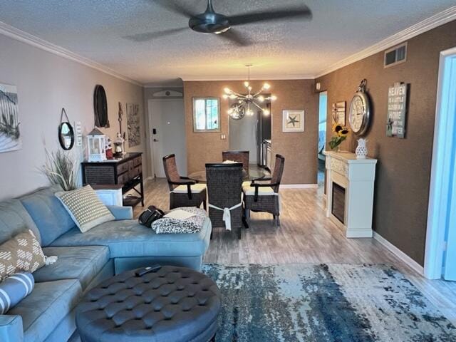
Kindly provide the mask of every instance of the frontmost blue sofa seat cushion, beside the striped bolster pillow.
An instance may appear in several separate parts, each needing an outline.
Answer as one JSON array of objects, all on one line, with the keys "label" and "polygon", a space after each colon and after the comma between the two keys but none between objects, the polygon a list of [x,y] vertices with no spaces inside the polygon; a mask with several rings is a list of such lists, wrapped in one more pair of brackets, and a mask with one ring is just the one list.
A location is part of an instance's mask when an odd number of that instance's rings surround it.
[{"label": "frontmost blue sofa seat cushion, beside the striped bolster pillow", "polygon": [[24,341],[45,341],[75,308],[81,294],[81,284],[76,279],[37,283],[32,293],[8,314],[22,317]]}]

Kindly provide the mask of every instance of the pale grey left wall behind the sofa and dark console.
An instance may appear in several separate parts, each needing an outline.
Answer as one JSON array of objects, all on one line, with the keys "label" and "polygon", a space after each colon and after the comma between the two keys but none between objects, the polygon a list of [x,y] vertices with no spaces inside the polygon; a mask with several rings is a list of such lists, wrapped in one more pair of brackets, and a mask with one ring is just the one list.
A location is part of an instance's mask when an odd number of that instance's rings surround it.
[{"label": "pale grey left wall behind the sofa and dark console", "polygon": [[[57,128],[61,108],[66,108],[73,124],[81,121],[83,133],[93,129],[93,90],[102,84],[108,98],[111,127],[106,133],[115,138],[119,130],[118,102],[138,103],[144,113],[142,87],[122,81],[88,66],[56,56],[26,43],[0,35],[0,83],[17,86],[22,149],[0,153],[0,200],[22,195],[48,185],[38,168],[46,159],[45,149],[60,149]],[[145,152],[145,125],[141,118],[141,145],[129,151]],[[123,130],[127,128],[126,117]],[[126,143],[128,147],[128,142]],[[82,158],[82,147],[73,147]],[[147,165],[147,155],[144,155]],[[147,167],[145,167],[147,171]]]}]

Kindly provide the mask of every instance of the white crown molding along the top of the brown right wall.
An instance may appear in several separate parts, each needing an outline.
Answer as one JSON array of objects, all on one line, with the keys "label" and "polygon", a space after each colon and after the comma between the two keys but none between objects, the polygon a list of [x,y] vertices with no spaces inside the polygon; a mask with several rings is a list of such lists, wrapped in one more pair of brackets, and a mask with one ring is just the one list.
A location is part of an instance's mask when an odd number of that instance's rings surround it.
[{"label": "white crown molding along the top of the brown right wall", "polygon": [[433,16],[430,16],[429,18],[420,21],[415,25],[405,28],[403,31],[399,31],[398,33],[393,34],[393,36],[389,36],[388,38],[383,39],[383,41],[379,41],[378,43],[375,43],[372,46],[359,51],[358,53],[355,53],[347,58],[344,58],[341,61],[338,61],[337,63],[318,73],[315,78],[325,76],[328,73],[332,73],[333,71],[343,68],[344,66],[350,65],[351,63],[361,61],[363,58],[372,56],[375,53],[384,51],[387,48],[398,45],[399,43],[403,43],[403,41],[407,41],[410,38],[418,36],[421,33],[425,33],[426,31],[430,31],[432,28],[436,28],[437,26],[447,24],[453,20],[456,20],[456,6],[445,9],[445,11],[441,11]]}]

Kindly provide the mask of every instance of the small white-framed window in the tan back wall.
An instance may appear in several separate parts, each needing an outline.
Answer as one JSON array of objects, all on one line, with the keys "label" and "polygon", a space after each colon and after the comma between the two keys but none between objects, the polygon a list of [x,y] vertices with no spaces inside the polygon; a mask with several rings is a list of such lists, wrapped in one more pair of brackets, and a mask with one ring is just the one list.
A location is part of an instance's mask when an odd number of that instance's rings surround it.
[{"label": "small white-framed window in the tan back wall", "polygon": [[220,131],[219,98],[193,98],[193,131]]}]

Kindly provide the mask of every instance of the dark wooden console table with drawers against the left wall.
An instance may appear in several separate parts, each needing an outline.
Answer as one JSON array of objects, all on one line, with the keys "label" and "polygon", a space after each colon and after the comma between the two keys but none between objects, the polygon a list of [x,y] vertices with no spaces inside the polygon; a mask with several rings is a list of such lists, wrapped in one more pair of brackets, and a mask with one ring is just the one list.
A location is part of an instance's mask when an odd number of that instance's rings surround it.
[{"label": "dark wooden console table with drawers against the left wall", "polygon": [[[144,182],[142,180],[142,153],[126,153],[120,159],[103,162],[82,162],[84,185],[122,185],[122,194],[134,190],[139,196],[127,196],[123,205],[144,207]],[[140,190],[137,189],[140,187]]]}]

